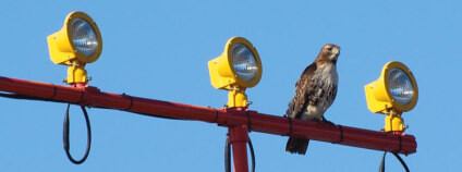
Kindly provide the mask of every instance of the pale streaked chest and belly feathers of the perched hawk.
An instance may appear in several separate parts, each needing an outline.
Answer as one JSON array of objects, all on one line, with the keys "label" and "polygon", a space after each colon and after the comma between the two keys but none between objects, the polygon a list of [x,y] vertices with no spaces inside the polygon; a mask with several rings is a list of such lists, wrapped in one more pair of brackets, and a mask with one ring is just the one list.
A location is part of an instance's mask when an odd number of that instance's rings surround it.
[{"label": "pale streaked chest and belly feathers of the perched hawk", "polygon": [[302,119],[320,119],[326,110],[332,105],[336,95],[339,76],[335,63],[321,63],[314,71],[309,89],[308,103],[304,109]]}]

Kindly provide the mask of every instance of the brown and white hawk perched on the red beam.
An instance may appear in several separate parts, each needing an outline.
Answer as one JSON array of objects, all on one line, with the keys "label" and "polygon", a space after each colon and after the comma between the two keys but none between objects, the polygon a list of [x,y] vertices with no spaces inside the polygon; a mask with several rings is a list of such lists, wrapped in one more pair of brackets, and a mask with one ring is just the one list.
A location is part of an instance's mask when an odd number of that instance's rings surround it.
[{"label": "brown and white hawk perched on the red beam", "polygon": [[[324,118],[324,113],[336,99],[339,54],[340,47],[332,44],[320,49],[316,60],[303,71],[295,84],[295,96],[285,112],[288,118],[333,124]],[[308,142],[309,139],[290,137],[285,151],[305,155]]]}]

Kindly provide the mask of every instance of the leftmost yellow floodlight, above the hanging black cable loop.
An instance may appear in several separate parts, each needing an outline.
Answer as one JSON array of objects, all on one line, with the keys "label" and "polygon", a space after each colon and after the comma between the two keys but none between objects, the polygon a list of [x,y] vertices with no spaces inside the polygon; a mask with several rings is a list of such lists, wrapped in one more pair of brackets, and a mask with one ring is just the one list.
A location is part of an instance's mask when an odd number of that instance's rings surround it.
[{"label": "leftmost yellow floodlight, above the hanging black cable loop", "polygon": [[98,60],[102,39],[98,26],[84,12],[71,12],[61,30],[47,37],[50,59],[56,64],[69,65],[68,84],[86,84],[85,64]]}]

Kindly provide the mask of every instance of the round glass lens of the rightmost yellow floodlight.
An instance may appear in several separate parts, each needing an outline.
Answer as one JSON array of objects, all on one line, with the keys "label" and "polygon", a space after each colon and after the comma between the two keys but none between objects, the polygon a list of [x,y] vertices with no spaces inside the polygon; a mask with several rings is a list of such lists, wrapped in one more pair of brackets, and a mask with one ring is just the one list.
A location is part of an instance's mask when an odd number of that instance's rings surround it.
[{"label": "round glass lens of the rightmost yellow floodlight", "polygon": [[388,75],[389,89],[394,100],[408,105],[414,97],[414,87],[411,78],[400,69],[392,69]]}]

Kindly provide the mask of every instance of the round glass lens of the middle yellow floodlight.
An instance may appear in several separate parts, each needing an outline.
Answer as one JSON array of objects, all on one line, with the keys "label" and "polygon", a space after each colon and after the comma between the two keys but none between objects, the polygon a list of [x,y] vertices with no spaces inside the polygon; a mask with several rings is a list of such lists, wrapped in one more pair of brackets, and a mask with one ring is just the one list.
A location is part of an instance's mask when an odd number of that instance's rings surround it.
[{"label": "round glass lens of the middle yellow floodlight", "polygon": [[258,72],[257,62],[254,53],[247,46],[236,44],[232,48],[232,63],[238,75],[245,81],[252,81]]}]

